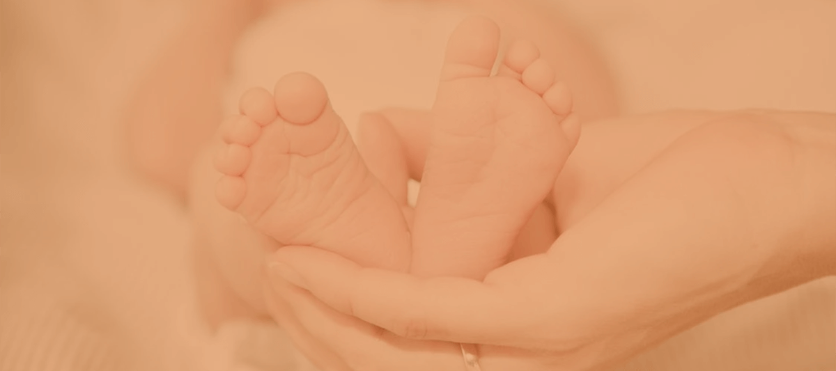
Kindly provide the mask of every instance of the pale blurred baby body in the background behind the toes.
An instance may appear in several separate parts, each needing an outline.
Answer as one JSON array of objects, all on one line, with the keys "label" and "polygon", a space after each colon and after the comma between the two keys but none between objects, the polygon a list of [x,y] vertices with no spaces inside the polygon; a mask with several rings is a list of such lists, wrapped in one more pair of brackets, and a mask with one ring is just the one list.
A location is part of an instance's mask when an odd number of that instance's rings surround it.
[{"label": "pale blurred baby body in the background behind the toes", "polygon": [[[517,38],[543,49],[558,80],[575,93],[584,119],[614,114],[609,76],[597,55],[543,1],[314,0],[280,3],[244,35],[233,56],[227,114],[254,86],[272,89],[285,74],[305,71],[329,89],[334,110],[354,134],[359,115],[385,107],[429,109],[444,47],[470,13],[502,27],[500,53]],[[548,12],[543,12],[548,10]],[[497,60],[502,60],[499,55]]]}]

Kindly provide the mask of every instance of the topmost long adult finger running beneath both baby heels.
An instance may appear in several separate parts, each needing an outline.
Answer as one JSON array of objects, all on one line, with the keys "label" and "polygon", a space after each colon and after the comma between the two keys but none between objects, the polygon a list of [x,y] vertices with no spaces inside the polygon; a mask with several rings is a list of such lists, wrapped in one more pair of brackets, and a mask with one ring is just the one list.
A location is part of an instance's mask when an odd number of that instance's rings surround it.
[{"label": "topmost long adult finger running beneath both baby heels", "polygon": [[548,274],[546,260],[541,255],[512,263],[524,267],[497,285],[363,268],[334,253],[302,246],[276,252],[270,270],[329,307],[405,338],[512,345],[548,313],[550,296],[543,295],[548,290],[538,283],[548,281],[519,276],[520,272]]}]

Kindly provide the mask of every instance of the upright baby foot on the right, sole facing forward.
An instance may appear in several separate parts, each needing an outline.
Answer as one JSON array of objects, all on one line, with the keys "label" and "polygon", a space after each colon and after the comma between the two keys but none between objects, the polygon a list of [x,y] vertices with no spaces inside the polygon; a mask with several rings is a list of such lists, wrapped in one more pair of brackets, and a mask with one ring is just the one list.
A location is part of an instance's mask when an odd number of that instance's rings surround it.
[{"label": "upright baby foot on the right, sole facing forward", "polygon": [[482,279],[507,254],[578,140],[563,84],[533,43],[512,44],[497,75],[499,28],[452,33],[413,225],[412,272]]}]

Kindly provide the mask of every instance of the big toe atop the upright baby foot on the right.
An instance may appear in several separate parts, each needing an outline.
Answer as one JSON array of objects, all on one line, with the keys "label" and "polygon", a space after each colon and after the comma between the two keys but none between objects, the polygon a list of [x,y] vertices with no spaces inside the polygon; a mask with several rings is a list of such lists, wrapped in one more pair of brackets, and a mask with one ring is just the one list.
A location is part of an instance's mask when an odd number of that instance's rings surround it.
[{"label": "big toe atop the upright baby foot on the right", "polygon": [[450,36],[441,81],[488,77],[499,52],[499,26],[490,19],[469,17]]}]

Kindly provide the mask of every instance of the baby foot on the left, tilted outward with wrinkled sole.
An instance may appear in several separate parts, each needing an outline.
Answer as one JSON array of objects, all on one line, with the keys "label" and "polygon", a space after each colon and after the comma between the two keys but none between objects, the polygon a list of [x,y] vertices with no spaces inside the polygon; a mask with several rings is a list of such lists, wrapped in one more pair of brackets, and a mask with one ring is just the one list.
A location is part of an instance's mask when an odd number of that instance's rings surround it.
[{"label": "baby foot on the left, tilted outward with wrinkled sole", "polygon": [[217,201],[283,245],[318,246],[366,267],[404,270],[400,206],[371,175],[318,79],[252,89],[221,129]]}]

